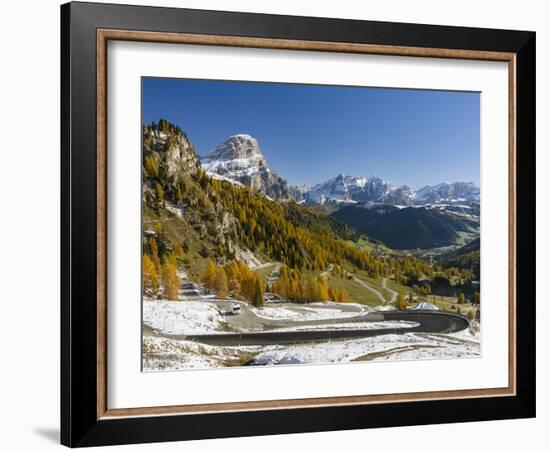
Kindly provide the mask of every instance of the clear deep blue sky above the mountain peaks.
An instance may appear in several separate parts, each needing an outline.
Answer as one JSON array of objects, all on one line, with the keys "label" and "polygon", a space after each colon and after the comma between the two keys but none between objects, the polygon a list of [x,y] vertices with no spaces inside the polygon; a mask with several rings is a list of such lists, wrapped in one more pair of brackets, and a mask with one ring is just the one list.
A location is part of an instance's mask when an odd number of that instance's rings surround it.
[{"label": "clear deep blue sky above the mountain peaks", "polygon": [[418,188],[479,185],[479,93],[143,79],[143,121],[179,125],[200,155],[233,134],[270,167],[312,186],[339,173]]}]

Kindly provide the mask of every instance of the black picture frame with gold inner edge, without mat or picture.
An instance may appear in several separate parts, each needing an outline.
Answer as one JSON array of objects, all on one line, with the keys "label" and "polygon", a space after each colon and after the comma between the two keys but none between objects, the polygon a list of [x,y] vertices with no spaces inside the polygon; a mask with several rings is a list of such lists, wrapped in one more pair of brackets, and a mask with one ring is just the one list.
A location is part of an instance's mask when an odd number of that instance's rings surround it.
[{"label": "black picture frame with gold inner edge, without mat or picture", "polygon": [[[535,33],[69,3],[61,7],[61,441],[68,446],[535,415]],[[509,67],[507,388],[109,409],[107,42],[505,61]]]}]

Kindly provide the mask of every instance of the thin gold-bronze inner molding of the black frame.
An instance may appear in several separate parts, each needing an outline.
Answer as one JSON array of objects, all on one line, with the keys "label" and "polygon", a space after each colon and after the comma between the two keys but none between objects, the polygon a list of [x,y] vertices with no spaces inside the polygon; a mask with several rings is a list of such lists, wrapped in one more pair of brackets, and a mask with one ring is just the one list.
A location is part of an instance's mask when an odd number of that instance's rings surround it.
[{"label": "thin gold-bronze inner molding of the black frame", "polygon": [[[109,40],[215,45],[266,49],[362,53],[392,56],[501,61],[508,63],[508,387],[490,389],[411,392],[289,400],[150,406],[109,409],[107,405],[107,42]],[[97,419],[131,416],[219,413],[266,409],[345,406],[516,395],[516,55],[515,53],[398,47],[387,45],[247,38],[237,36],[156,33],[113,29],[97,30]]]}]

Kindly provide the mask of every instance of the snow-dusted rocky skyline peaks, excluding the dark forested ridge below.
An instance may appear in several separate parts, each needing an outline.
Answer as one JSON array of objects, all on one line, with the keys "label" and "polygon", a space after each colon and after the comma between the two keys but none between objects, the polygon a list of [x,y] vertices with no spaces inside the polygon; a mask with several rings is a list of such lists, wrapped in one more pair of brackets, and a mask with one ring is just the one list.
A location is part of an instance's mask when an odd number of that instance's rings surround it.
[{"label": "snow-dusted rocky skyline peaks, excluding the dark forested ridge below", "polygon": [[311,188],[289,186],[269,168],[258,141],[247,134],[230,136],[201,159],[211,176],[248,186],[273,199],[293,199],[311,206],[331,204],[336,210],[345,204],[368,203],[397,206],[479,203],[480,191],[473,183],[457,181],[413,190],[395,187],[376,176],[339,174]]}]

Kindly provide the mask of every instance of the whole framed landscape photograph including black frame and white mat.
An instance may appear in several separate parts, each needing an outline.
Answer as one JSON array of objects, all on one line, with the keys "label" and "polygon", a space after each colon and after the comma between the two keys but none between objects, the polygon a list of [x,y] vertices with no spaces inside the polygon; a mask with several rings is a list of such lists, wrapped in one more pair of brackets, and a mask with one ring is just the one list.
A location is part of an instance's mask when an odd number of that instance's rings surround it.
[{"label": "whole framed landscape photograph including black frame and white mat", "polygon": [[63,444],[534,417],[534,32],[61,27]]}]

